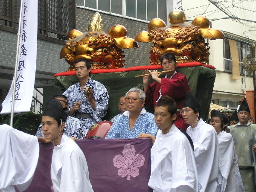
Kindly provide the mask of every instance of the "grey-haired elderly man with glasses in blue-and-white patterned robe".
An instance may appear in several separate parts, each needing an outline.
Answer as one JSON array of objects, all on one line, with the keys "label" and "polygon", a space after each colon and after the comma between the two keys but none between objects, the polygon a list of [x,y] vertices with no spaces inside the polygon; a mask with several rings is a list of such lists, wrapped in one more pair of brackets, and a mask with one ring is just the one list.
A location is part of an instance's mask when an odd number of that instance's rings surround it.
[{"label": "grey-haired elderly man with glasses in blue-and-white patterned robe", "polygon": [[145,104],[145,93],[134,87],[125,95],[125,108],[109,130],[106,138],[137,138],[141,133],[156,136],[157,125],[154,115],[148,113],[143,107]]}]

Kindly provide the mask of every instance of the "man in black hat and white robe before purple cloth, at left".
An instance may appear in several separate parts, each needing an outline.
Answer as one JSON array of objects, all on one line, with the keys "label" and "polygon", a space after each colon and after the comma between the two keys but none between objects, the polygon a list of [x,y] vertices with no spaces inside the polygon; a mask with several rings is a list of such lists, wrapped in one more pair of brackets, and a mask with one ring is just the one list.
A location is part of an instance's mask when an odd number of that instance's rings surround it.
[{"label": "man in black hat and white robe before purple cloth, at left", "polygon": [[51,179],[54,192],[93,192],[83,152],[63,133],[68,109],[50,99],[42,116],[44,137],[54,144]]}]

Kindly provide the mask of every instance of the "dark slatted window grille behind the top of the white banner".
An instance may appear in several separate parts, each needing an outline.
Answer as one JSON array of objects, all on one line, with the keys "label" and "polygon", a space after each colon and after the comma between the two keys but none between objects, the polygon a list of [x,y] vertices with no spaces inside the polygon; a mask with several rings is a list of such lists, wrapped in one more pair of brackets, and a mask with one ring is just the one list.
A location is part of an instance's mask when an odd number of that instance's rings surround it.
[{"label": "dark slatted window grille behind the top of the white banner", "polygon": [[[19,10],[20,1],[0,0],[0,24],[17,28]],[[76,28],[75,13],[75,0],[38,1],[38,33],[66,39],[67,33]]]}]

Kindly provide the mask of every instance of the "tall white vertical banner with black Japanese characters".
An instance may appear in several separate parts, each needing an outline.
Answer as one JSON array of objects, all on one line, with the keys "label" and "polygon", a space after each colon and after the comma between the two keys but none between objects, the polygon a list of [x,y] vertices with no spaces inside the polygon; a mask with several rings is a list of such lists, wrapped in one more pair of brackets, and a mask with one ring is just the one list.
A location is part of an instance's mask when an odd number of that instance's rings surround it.
[{"label": "tall white vertical banner with black Japanese characters", "polygon": [[[20,41],[16,63],[17,76],[16,79],[12,79],[12,85],[3,101],[1,113],[11,113],[13,86],[15,86],[15,113],[30,111],[32,102],[37,53],[38,0],[23,0],[21,2]],[[14,80],[16,80],[15,85]]]}]

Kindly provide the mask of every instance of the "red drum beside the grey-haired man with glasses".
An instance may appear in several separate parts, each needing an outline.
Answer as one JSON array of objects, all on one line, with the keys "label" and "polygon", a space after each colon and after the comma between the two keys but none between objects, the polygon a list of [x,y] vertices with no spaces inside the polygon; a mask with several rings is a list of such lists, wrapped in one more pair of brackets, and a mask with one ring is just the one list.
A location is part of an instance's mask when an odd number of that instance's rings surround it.
[{"label": "red drum beside the grey-haired man with glasses", "polygon": [[110,121],[100,121],[95,125],[91,126],[90,130],[87,132],[85,139],[104,139],[110,130],[113,122]]}]

